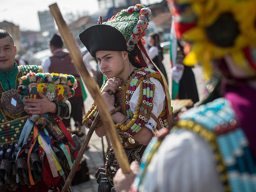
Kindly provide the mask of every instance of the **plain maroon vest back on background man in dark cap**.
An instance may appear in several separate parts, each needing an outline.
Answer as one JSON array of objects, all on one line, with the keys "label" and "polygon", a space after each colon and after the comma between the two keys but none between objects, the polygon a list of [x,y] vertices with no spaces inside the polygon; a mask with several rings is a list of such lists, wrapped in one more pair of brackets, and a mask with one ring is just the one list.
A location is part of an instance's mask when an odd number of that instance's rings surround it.
[{"label": "plain maroon vest back on background man in dark cap", "polygon": [[72,59],[69,53],[58,51],[53,56],[50,57],[51,65],[49,68],[49,72],[52,73],[63,73],[63,74],[71,74],[75,77],[79,76],[78,71],[76,70],[74,64],[72,63]]}]

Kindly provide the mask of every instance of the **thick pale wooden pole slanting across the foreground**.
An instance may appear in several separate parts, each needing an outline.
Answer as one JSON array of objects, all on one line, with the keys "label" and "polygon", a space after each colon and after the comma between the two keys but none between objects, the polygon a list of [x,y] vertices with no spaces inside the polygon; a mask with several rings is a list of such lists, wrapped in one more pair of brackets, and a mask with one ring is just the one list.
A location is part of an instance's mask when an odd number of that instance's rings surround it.
[{"label": "thick pale wooden pole slanting across the foreground", "polygon": [[[100,115],[102,116],[102,121],[105,125],[107,125],[106,131],[112,142],[112,145],[115,151],[115,156],[116,156],[116,159],[118,160],[118,164],[122,168],[122,171],[124,173],[129,173],[130,172],[129,162],[124,152],[124,148],[122,147],[120,140],[118,139],[116,130],[114,128],[114,122],[110,116],[109,111],[107,110],[106,103],[100,94],[98,85],[96,84],[94,79],[90,76],[90,73],[88,72],[84,64],[82,56],[76,45],[76,40],[74,39],[74,36],[70,33],[70,30],[66,25],[66,22],[64,21],[57,4],[56,3],[52,4],[49,6],[49,8],[59,28],[59,31],[64,40],[64,43],[68,48],[70,55],[72,56],[72,59],[74,60],[74,64],[78,69],[78,72],[80,73],[80,76],[82,77],[82,80],[84,81],[90,94],[92,95],[92,98],[94,98],[95,103],[97,104],[97,107],[100,111]],[[84,154],[84,151],[82,151],[81,149],[79,153]],[[74,169],[76,171],[79,164],[80,164],[80,160],[77,159],[72,167],[72,170]],[[66,183],[62,189],[62,192],[66,192],[68,186],[71,184],[72,179],[73,177],[71,178],[71,175],[69,174],[66,180]]]}]

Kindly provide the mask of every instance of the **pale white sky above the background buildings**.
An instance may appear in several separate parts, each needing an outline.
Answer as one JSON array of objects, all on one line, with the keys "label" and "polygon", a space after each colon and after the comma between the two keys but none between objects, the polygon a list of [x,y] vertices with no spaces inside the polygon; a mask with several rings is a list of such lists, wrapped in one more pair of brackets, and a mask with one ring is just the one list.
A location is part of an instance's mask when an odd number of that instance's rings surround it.
[{"label": "pale white sky above the background buildings", "polygon": [[[142,4],[162,0],[141,0]],[[49,5],[57,3],[62,16],[68,12],[90,14],[99,10],[97,0],[1,0],[0,22],[6,20],[20,26],[20,30],[40,30],[38,11],[49,10]]]}]

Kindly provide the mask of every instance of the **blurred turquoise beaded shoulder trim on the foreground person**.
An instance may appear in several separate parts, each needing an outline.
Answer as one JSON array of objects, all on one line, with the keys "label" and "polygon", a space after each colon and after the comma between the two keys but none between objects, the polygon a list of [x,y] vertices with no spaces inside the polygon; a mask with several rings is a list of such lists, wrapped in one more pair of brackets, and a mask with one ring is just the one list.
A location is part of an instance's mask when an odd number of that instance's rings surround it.
[{"label": "blurred turquoise beaded shoulder trim on the foreground person", "polygon": [[226,167],[228,184],[232,192],[256,191],[256,163],[248,140],[239,128],[228,100],[216,99],[206,105],[192,108],[180,118],[192,120],[216,135],[216,143]]}]

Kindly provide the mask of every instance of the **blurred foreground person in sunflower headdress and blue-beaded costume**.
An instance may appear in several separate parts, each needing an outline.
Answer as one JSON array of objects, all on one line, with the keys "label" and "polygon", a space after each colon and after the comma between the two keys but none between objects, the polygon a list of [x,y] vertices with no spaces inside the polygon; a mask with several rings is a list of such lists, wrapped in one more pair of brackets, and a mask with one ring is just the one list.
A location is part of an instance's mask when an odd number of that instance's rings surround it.
[{"label": "blurred foreground person in sunflower headdress and blue-beaded costume", "polygon": [[132,191],[254,192],[256,2],[170,2],[176,32],[192,44],[184,64],[201,62],[207,76],[219,69],[224,97],[184,112],[151,140]]}]

